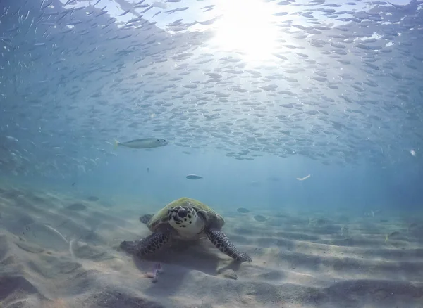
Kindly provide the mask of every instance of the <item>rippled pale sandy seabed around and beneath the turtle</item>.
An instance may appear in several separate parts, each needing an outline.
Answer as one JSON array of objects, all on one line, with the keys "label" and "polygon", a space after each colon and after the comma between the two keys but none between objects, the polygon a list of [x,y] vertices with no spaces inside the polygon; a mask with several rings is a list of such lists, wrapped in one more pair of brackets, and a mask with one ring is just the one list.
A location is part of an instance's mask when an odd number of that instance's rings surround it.
[{"label": "rippled pale sandy seabed around and beneath the turtle", "polygon": [[422,217],[233,209],[223,231],[251,263],[207,240],[120,251],[158,209],[1,186],[0,307],[423,307]]}]

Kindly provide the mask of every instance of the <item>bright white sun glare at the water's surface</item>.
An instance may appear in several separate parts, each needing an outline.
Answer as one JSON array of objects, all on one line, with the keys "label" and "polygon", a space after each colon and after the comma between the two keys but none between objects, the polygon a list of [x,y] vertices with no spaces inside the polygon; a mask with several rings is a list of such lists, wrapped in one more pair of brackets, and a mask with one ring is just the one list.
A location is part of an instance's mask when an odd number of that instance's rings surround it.
[{"label": "bright white sun glare at the water's surface", "polygon": [[276,49],[278,27],[274,6],[261,0],[221,0],[213,43],[222,51],[238,51],[250,60],[266,60]]}]

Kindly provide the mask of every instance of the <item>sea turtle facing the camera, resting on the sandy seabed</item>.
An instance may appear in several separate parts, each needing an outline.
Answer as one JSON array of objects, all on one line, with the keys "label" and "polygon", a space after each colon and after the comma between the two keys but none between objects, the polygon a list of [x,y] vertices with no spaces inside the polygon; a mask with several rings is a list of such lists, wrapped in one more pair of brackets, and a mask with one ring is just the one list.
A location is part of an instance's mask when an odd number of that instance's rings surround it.
[{"label": "sea turtle facing the camera, resting on the sandy seabed", "polygon": [[141,240],[125,240],[121,243],[122,250],[137,257],[152,255],[172,239],[197,240],[207,237],[229,257],[239,262],[252,261],[245,252],[236,249],[221,231],[225,224],[223,217],[200,201],[180,198],[166,205],[157,214],[140,217],[140,221],[147,224],[153,233]]}]

